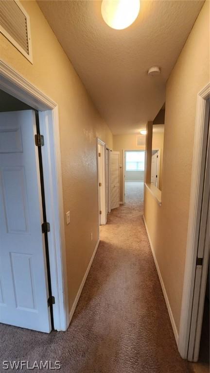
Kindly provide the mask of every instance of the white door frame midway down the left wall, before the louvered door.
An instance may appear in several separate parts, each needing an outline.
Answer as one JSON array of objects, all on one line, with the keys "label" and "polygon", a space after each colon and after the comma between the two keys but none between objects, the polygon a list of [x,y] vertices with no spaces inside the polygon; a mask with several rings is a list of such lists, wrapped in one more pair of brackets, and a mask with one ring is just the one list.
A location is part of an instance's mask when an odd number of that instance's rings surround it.
[{"label": "white door frame midway down the left wall, before the louvered door", "polygon": [[[99,186],[99,156],[97,154],[97,175],[98,175],[98,201],[99,201],[99,225],[106,224],[107,216],[106,216],[106,208],[105,208],[105,150],[106,145],[105,142],[102,141],[100,138],[97,137],[97,153],[98,153],[98,145],[102,145],[102,153],[101,153],[101,161],[102,161],[102,185]],[[102,193],[102,214],[100,215],[100,193]]]}]

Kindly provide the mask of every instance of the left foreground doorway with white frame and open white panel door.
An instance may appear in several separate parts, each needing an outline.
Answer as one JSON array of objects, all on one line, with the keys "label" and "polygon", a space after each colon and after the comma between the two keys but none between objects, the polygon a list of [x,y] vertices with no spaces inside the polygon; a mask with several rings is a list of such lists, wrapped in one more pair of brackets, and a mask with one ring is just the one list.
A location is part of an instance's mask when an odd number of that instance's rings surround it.
[{"label": "left foreground doorway with white frame and open white panel door", "polygon": [[3,62],[0,97],[0,322],[66,330],[57,105]]}]

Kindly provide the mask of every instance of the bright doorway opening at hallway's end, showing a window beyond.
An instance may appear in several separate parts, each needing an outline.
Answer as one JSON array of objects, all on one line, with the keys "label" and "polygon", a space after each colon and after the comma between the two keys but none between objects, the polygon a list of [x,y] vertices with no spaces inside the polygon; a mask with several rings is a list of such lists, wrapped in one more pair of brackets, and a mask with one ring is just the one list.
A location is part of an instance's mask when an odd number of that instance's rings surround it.
[{"label": "bright doorway opening at hallway's end, showing a window beyond", "polygon": [[123,154],[123,202],[143,199],[145,151],[125,150]]}]

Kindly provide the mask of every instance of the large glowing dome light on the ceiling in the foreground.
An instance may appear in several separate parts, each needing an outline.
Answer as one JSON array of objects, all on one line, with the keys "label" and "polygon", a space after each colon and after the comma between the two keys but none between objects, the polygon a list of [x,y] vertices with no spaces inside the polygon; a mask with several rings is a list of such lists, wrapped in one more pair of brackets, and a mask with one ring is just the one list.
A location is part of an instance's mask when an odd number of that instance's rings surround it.
[{"label": "large glowing dome light on the ceiling in the foreground", "polygon": [[123,30],[138,17],[140,0],[103,0],[102,17],[112,29]]}]

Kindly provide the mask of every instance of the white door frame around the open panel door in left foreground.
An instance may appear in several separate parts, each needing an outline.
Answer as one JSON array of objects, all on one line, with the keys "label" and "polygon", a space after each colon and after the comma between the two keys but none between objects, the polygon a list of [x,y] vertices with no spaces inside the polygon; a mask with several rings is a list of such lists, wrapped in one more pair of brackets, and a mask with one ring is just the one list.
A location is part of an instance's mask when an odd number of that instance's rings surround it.
[{"label": "white door frame around the open panel door in left foreground", "polygon": [[69,326],[69,301],[58,105],[3,61],[0,61],[0,89],[39,111],[40,131],[45,144],[42,162],[46,213],[51,226],[48,242],[52,294],[55,297],[54,329],[65,331]]}]

